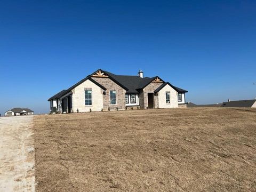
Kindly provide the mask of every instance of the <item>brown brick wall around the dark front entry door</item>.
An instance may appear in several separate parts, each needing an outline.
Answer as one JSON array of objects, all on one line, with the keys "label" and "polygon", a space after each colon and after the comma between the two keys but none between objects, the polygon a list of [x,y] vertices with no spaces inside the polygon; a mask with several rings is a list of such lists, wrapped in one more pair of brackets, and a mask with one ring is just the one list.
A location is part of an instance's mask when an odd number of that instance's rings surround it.
[{"label": "brown brick wall around the dark front entry door", "polygon": [[[148,86],[143,89],[143,99],[144,105],[141,108],[146,109],[148,107],[148,93],[154,93],[154,91],[161,86],[163,83],[151,82]],[[154,94],[154,108],[159,108],[158,106],[158,95]]]}]

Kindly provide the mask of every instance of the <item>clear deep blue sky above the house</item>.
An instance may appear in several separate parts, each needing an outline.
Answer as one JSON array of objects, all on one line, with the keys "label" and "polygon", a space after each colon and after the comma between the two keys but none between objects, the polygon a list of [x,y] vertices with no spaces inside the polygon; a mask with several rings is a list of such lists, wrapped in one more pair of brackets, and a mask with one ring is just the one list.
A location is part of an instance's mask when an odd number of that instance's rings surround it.
[{"label": "clear deep blue sky above the house", "polygon": [[98,68],[160,76],[187,101],[256,97],[255,1],[0,1],[0,113]]}]

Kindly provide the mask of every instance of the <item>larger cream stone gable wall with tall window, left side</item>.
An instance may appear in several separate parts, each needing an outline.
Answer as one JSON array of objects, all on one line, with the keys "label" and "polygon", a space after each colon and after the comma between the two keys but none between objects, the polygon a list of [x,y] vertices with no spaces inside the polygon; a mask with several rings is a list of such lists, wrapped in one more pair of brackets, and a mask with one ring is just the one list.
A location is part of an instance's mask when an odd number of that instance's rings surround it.
[{"label": "larger cream stone gable wall with tall window, left side", "polygon": [[[91,106],[85,105],[85,89],[92,89]],[[79,112],[88,112],[90,109],[92,111],[100,111],[103,108],[103,90],[89,79],[75,87],[72,92],[72,105],[74,113],[77,113],[77,109]]]}]

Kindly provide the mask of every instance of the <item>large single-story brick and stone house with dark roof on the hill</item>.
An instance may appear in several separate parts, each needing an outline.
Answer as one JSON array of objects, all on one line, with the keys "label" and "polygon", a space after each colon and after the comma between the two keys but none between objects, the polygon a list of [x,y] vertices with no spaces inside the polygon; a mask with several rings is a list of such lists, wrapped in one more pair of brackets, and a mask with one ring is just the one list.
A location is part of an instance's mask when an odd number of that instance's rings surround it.
[{"label": "large single-story brick and stone house with dark roof on the hill", "polygon": [[159,76],[143,77],[141,70],[137,76],[131,76],[98,69],[48,101],[51,113],[175,108],[186,107],[187,92]]}]

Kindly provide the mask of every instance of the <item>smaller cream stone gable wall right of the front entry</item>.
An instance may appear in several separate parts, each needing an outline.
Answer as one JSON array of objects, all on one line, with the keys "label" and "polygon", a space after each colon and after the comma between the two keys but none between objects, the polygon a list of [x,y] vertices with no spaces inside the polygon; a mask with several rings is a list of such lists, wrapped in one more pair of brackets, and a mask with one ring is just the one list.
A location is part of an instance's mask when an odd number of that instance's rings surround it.
[{"label": "smaller cream stone gable wall right of the front entry", "polygon": [[[170,103],[166,103],[166,91],[170,92]],[[175,108],[178,107],[178,95],[170,85],[165,85],[158,92],[159,108]]]}]

